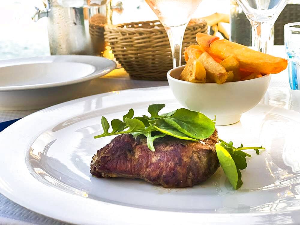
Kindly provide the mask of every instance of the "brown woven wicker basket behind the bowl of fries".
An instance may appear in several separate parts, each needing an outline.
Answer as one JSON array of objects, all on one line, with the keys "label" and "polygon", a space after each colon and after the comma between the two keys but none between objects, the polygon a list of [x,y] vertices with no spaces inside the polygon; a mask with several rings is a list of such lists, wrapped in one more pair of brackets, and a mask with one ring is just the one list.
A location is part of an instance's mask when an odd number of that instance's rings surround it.
[{"label": "brown woven wicker basket behind the bowl of fries", "polygon": [[[196,43],[196,33],[207,33],[205,21],[193,20],[184,34],[183,49]],[[105,26],[105,40],[117,61],[139,80],[166,80],[173,68],[167,33],[158,20]],[[185,64],[182,57],[182,64]]]}]

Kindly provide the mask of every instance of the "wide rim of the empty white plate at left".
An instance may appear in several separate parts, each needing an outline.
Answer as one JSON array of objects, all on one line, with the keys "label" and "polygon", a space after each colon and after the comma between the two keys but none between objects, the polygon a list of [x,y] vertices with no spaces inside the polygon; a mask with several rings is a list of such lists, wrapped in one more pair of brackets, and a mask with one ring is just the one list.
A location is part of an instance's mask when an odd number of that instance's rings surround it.
[{"label": "wide rim of the empty white plate at left", "polygon": [[[19,59],[9,59],[0,61],[0,67],[8,67],[15,65],[24,64],[36,64],[36,63],[52,63],[52,62],[75,62],[75,63],[85,63],[90,64],[95,67],[95,71],[85,77],[79,77],[70,81],[63,81],[57,83],[48,84],[31,84],[31,85],[18,85],[18,86],[8,86],[1,87],[0,91],[15,91],[15,90],[32,90],[39,88],[49,88],[49,87],[60,87],[70,84],[81,83],[94,78],[110,73],[117,66],[116,62],[104,57],[92,56],[92,55],[50,55],[43,57],[31,57],[31,58],[19,58]],[[103,68],[102,64],[106,63],[107,66]]]}]

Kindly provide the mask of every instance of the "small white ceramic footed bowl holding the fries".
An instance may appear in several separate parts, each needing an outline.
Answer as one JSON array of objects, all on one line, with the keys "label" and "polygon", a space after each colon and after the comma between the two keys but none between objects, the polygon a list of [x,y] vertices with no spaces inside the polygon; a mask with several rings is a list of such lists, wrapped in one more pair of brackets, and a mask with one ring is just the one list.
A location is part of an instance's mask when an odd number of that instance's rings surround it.
[{"label": "small white ceramic footed bowl holding the fries", "polygon": [[271,80],[267,74],[252,80],[224,84],[193,83],[179,80],[184,67],[176,67],[167,73],[175,98],[184,107],[199,111],[211,119],[216,115],[216,125],[238,122],[242,113],[259,103]]}]

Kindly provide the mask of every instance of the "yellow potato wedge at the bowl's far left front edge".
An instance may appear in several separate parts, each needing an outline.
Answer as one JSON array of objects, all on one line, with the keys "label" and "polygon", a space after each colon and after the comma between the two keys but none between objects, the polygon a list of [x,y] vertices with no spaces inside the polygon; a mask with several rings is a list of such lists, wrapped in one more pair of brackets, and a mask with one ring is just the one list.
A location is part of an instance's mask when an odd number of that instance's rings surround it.
[{"label": "yellow potato wedge at the bowl's far left front edge", "polygon": [[205,83],[206,71],[204,66],[195,57],[190,57],[179,79],[190,82]]}]

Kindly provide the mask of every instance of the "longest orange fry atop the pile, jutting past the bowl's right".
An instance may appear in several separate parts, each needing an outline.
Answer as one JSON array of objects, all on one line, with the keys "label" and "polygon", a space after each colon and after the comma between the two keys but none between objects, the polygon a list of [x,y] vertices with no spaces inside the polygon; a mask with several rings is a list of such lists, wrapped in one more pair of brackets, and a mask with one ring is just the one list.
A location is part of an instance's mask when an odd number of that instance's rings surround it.
[{"label": "longest orange fry atop the pile, jutting past the bowl's right", "polygon": [[228,40],[217,40],[208,34],[197,33],[196,41],[209,55],[222,60],[235,56],[240,68],[248,71],[257,71],[263,74],[280,73],[287,67],[287,60],[262,52],[257,52],[238,43]]}]

